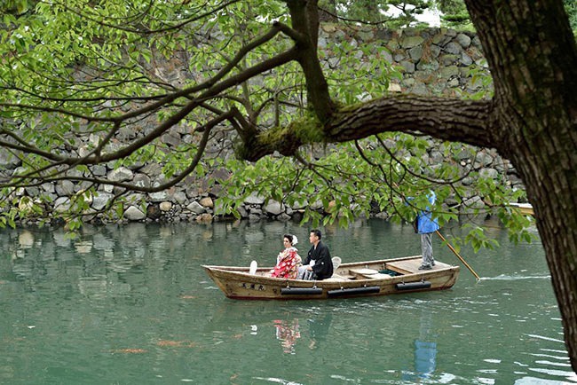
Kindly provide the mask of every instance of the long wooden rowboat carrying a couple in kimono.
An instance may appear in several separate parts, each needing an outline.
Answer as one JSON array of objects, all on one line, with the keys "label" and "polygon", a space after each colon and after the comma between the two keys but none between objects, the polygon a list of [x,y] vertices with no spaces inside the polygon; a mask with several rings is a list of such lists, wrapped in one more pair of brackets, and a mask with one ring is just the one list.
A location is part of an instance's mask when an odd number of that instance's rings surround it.
[{"label": "long wooden rowboat carrying a couple in kimono", "polygon": [[437,261],[431,270],[418,270],[421,255],[368,262],[343,263],[330,279],[272,278],[272,267],[203,265],[210,279],[234,299],[326,299],[442,290],[453,287],[459,266]]}]

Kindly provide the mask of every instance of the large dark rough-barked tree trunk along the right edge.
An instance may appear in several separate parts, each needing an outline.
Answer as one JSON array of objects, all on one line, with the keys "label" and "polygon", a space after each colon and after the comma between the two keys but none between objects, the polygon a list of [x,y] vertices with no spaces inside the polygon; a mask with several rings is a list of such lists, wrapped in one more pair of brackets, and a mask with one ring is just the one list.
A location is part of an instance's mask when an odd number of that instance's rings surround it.
[{"label": "large dark rough-barked tree trunk along the right edge", "polygon": [[466,1],[494,78],[495,147],[533,204],[577,372],[577,48],[562,2]]}]

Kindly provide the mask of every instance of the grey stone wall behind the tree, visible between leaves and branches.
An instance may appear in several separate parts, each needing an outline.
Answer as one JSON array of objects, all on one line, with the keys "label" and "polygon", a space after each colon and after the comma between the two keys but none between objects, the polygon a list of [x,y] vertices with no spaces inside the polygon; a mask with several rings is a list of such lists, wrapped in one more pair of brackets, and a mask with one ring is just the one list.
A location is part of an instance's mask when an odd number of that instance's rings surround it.
[{"label": "grey stone wall behind the tree, visible between leaves and branches", "polygon": [[[320,30],[320,50],[325,50],[330,42],[342,42],[346,40],[352,46],[368,43],[369,46],[385,46],[388,51],[384,52],[384,59],[394,66],[402,68],[401,80],[392,83],[390,90],[410,92],[421,95],[448,96],[472,94],[485,87],[491,87],[490,83],[483,82],[487,79],[488,71],[484,64],[478,37],[468,32],[456,32],[444,28],[406,29],[402,31],[389,31],[378,28],[359,27],[344,30],[334,25],[325,25]],[[360,61],[367,59],[360,54]],[[178,58],[176,58],[178,60]],[[332,66],[332,58],[324,59],[325,66]],[[167,63],[172,68],[178,63]],[[163,68],[158,68],[162,74]],[[484,76],[473,76],[471,70]],[[174,71],[165,71],[174,74]],[[182,76],[179,73],[179,76]],[[143,130],[147,130],[144,127]],[[137,138],[135,132],[121,133],[124,140]],[[189,142],[191,136],[187,130],[180,130],[176,134],[162,137],[164,143]],[[90,143],[90,142],[94,143]],[[88,138],[86,145],[95,145],[98,138]],[[210,149],[209,149],[210,151]],[[429,161],[439,162],[439,151],[435,151],[435,142],[431,140]],[[509,161],[502,159],[494,150],[484,149],[481,152],[463,151],[459,161],[463,168],[478,169],[484,175],[501,177],[505,175],[510,185],[515,188],[523,188],[515,170]],[[19,161],[13,158],[9,160],[4,153],[0,153],[0,174],[12,174],[20,167]],[[107,177],[113,181],[128,182],[143,186],[160,185],[164,181],[162,165],[149,163],[138,169],[121,167],[113,169],[113,164],[98,165],[91,168],[96,177]],[[217,170],[210,177],[225,177],[225,170]],[[466,183],[466,182],[465,182]],[[88,216],[91,221],[212,221],[215,204],[218,202],[220,190],[218,185],[209,187],[207,179],[196,180],[193,177],[186,178],[183,183],[176,185],[168,191],[160,193],[131,193],[128,195],[128,204],[122,218],[112,216],[107,218],[102,215]],[[58,216],[66,210],[69,198],[86,188],[85,183],[73,183],[60,181],[55,184],[44,184],[20,189],[20,197],[35,198],[40,194],[51,199],[52,207],[47,212],[53,211],[51,216]],[[111,185],[103,185],[99,188],[99,195],[91,197],[91,209],[104,208],[115,193]],[[477,197],[478,198],[478,197]],[[475,200],[475,197],[473,197]],[[478,198],[480,201],[480,198]],[[280,202],[268,201],[262,197],[251,196],[241,207],[241,215],[251,220],[260,218],[274,218],[286,220],[299,215],[302,208],[289,208]],[[383,215],[383,213],[375,213]],[[36,219],[30,219],[35,222]],[[50,218],[49,218],[50,221]]]}]

